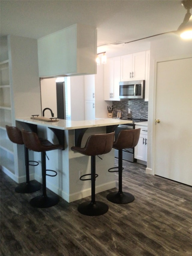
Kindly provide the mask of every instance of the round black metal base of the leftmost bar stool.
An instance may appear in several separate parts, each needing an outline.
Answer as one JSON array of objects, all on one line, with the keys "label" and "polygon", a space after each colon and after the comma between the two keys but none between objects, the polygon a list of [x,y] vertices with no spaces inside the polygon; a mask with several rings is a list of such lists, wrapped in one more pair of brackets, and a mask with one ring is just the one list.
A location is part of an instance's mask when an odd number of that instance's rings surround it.
[{"label": "round black metal base of the leftmost bar stool", "polygon": [[41,183],[38,181],[31,180],[29,183],[23,182],[15,188],[16,193],[28,194],[40,190]]}]

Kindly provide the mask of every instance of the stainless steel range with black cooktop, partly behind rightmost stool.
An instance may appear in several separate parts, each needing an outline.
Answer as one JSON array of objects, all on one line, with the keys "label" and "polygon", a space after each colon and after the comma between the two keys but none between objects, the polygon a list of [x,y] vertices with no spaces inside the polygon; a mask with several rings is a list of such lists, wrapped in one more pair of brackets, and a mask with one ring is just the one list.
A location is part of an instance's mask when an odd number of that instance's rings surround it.
[{"label": "stainless steel range with black cooktop, partly behind rightmost stool", "polygon": [[[147,119],[126,119],[126,120],[132,120],[132,123],[129,124],[123,124],[123,125],[119,125],[116,129],[115,129],[115,138],[117,138],[119,132],[121,130],[125,130],[125,129],[135,129],[135,122],[146,122]],[[118,150],[115,149],[115,157],[118,158]],[[123,160],[126,161],[130,161],[130,162],[136,162],[136,159],[134,158],[134,148],[133,149],[123,149]]]}]

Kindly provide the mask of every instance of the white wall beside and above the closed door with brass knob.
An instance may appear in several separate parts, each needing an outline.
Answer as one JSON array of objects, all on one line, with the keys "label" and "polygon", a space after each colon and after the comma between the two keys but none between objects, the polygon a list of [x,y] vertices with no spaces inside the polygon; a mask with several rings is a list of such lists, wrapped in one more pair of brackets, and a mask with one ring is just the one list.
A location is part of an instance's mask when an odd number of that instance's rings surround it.
[{"label": "white wall beside and above the closed door with brass knob", "polygon": [[[184,41],[178,35],[167,35],[164,39],[151,42],[150,51],[150,78],[149,78],[149,105],[148,105],[148,155],[147,169],[152,169],[152,140],[155,121],[155,62],[165,59],[183,58],[192,56],[192,40]],[[171,95],[170,95],[171,97]],[[162,103],[163,104],[163,103]],[[182,117],[178,117],[178,119]],[[185,125],[185,124],[184,124]]]}]

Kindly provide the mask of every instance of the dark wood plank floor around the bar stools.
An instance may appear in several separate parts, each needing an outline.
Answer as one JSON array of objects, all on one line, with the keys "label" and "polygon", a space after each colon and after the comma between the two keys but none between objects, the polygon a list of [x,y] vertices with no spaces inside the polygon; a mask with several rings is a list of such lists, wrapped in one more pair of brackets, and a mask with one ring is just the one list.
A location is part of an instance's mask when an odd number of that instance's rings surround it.
[{"label": "dark wood plank floor around the bar stools", "polygon": [[33,208],[29,201],[41,190],[17,194],[17,184],[1,172],[1,256],[192,255],[192,187],[146,174],[142,164],[123,166],[123,191],[135,200],[107,201],[117,189],[96,194],[109,211],[94,217],[77,211],[90,197]]}]

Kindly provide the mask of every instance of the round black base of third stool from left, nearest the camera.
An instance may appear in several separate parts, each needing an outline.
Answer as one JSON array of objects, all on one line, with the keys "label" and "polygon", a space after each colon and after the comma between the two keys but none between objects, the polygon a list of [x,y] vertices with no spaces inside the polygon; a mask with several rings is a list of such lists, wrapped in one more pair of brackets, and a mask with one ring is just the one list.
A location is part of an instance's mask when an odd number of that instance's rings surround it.
[{"label": "round black base of third stool from left, nearest the camera", "polygon": [[106,203],[95,201],[95,203],[91,203],[91,202],[81,203],[77,209],[83,215],[99,216],[106,213],[109,207]]}]

